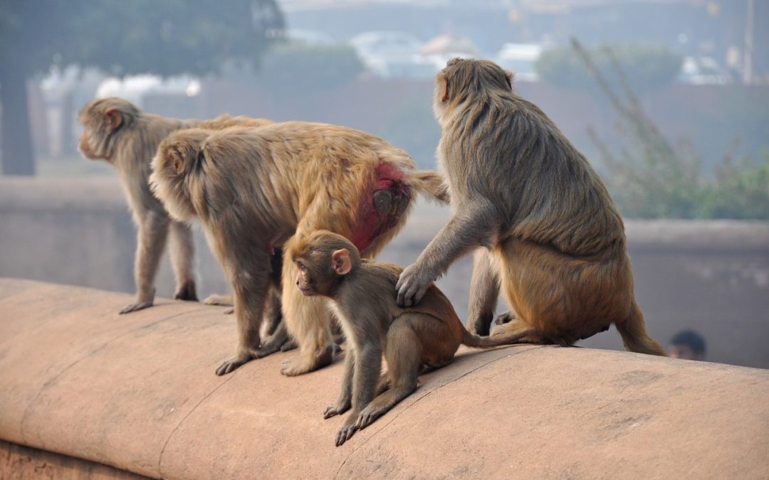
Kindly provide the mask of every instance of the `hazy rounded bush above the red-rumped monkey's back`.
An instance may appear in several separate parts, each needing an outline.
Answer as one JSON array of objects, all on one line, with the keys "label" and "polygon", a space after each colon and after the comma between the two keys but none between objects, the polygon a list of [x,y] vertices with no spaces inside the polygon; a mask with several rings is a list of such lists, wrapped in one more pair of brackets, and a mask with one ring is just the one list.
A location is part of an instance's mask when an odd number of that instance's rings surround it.
[{"label": "hazy rounded bush above the red-rumped monkey's back", "polygon": [[259,80],[275,94],[327,91],[354,80],[364,65],[348,45],[274,45],[265,55]]}]

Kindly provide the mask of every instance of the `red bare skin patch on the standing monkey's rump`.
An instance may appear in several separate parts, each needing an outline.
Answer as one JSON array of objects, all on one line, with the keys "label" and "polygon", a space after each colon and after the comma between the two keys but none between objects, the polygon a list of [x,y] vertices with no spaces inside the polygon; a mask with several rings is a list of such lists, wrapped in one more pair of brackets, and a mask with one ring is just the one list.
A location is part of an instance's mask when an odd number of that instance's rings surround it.
[{"label": "red bare skin patch on the standing monkey's rump", "polygon": [[371,241],[398,224],[411,201],[411,187],[403,183],[403,172],[382,162],[375,169],[371,190],[358,207],[358,221],[350,241],[365,250]]}]

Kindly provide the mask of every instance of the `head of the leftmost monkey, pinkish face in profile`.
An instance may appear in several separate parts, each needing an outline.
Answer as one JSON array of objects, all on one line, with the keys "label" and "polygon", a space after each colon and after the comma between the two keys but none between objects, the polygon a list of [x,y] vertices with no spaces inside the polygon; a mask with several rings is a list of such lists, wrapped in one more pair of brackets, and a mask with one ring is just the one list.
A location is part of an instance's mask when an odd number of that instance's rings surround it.
[{"label": "head of the leftmost monkey, pinkish face in profile", "polygon": [[92,160],[113,161],[120,134],[131,127],[141,111],[122,98],[98,98],[85,104],[78,114],[83,133],[78,150]]}]

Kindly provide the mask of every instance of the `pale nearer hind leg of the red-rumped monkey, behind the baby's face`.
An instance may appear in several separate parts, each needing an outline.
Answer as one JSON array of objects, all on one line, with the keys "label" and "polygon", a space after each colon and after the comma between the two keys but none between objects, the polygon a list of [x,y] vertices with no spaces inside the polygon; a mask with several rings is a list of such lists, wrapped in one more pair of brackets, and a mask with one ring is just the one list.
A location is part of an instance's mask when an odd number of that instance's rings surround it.
[{"label": "pale nearer hind leg of the red-rumped monkey, behind the baby's face", "polygon": [[[285,248],[287,255],[289,251],[291,248]],[[325,300],[301,294],[294,285],[297,273],[296,265],[286,258],[283,262],[283,319],[288,333],[299,345],[299,356],[285,362],[281,369],[287,376],[312,372],[334,359],[331,312]]]}]

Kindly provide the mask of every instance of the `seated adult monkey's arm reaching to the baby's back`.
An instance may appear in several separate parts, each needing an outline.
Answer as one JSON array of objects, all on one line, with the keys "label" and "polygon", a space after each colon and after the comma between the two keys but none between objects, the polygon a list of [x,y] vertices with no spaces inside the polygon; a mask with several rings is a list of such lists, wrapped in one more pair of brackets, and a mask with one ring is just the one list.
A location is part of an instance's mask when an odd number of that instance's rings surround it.
[{"label": "seated adult monkey's arm reaching to the baby's back", "polygon": [[395,285],[398,306],[416,305],[430,283],[454,260],[488,240],[494,231],[494,220],[498,218],[495,211],[490,202],[476,200],[452,215],[417,261],[406,267],[398,278]]}]

